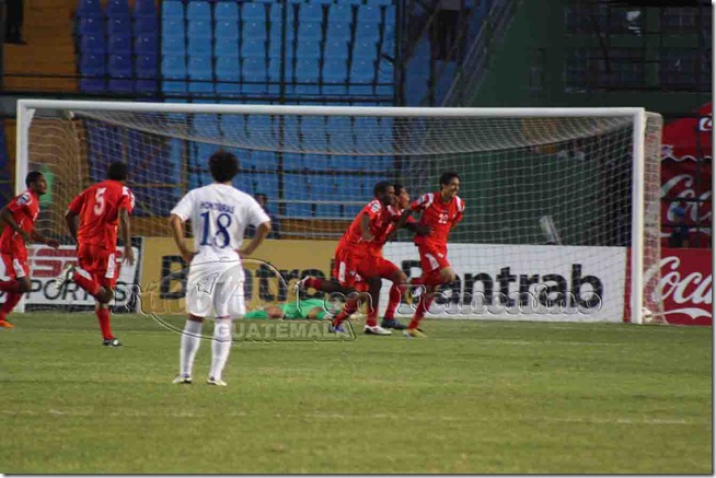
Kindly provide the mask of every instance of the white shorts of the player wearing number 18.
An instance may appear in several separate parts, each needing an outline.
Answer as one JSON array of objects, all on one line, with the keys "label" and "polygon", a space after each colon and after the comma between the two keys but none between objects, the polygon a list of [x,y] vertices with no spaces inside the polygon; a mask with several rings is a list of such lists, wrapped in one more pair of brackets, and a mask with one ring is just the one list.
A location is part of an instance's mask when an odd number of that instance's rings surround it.
[{"label": "white shorts of the player wearing number 18", "polygon": [[186,280],[186,312],[197,317],[243,317],[246,305],[241,260],[192,264]]}]

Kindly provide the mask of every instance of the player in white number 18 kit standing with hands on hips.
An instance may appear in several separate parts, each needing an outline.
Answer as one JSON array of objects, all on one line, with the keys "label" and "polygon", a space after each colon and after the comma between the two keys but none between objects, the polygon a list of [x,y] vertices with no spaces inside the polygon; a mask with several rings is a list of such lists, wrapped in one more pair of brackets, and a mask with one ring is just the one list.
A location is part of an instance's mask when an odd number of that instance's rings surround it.
[{"label": "player in white number 18 kit standing with hands on hips", "polygon": [[[212,317],[211,370],[207,383],[224,386],[221,372],[231,350],[231,319],[246,313],[241,258],[256,250],[272,226],[258,202],[231,185],[239,172],[236,156],[219,150],[209,158],[209,170],[215,183],[188,191],[172,209],[170,219],[174,242],[184,260],[190,263],[186,281],[188,318],[182,334],[180,374],[174,383],[192,383],[204,318]],[[184,243],[186,221],[192,221],[194,250]],[[256,234],[242,247],[249,224],[256,226]]]}]

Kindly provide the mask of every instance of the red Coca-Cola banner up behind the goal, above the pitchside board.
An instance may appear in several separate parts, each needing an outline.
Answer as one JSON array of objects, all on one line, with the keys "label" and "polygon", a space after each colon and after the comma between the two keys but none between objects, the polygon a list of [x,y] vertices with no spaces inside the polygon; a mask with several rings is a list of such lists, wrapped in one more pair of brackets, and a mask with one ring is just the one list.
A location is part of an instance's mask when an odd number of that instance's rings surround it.
[{"label": "red Coca-Cola banner up behind the goal, above the pitchside board", "polygon": [[[684,215],[691,228],[690,245],[707,247],[712,230],[712,105],[698,117],[682,118],[663,127],[661,140],[661,223],[674,224]],[[701,202],[682,201],[701,199]],[[705,224],[695,228],[696,224]],[[661,230],[662,247],[668,247],[670,226]]]}]

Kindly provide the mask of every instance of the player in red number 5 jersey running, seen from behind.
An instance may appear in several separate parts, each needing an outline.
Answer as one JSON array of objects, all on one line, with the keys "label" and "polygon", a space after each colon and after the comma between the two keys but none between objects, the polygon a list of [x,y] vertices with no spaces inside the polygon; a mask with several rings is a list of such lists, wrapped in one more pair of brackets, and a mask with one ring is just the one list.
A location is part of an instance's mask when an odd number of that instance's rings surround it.
[{"label": "player in red number 5 jersey running, seen from behind", "polygon": [[122,346],[112,335],[109,324],[109,302],[117,281],[117,224],[122,228],[125,244],[124,260],[135,264],[129,228],[135,197],[125,186],[126,180],[127,165],[122,162],[109,164],[107,179],[80,193],[65,213],[67,226],[78,245],[78,267],[71,267],[63,273],[58,288],[71,278],[95,299],[94,312],[102,329],[102,345],[107,347]]}]

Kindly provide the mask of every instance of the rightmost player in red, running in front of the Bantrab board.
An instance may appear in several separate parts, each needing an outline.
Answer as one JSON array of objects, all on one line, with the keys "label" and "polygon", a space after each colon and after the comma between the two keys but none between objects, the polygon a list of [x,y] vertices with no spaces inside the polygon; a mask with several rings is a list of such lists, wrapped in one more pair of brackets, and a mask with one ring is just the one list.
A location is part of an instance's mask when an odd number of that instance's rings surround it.
[{"label": "rightmost player in red, running in front of the Bantrab board", "polygon": [[[465,211],[465,202],[458,197],[459,190],[458,173],[446,172],[440,176],[439,191],[425,194],[411,205],[411,211],[421,212],[418,224],[429,228],[430,232],[415,236],[423,269],[419,283],[424,285],[425,292],[420,295],[413,320],[404,331],[406,337],[425,337],[418,325],[430,308],[435,290],[455,280],[455,271],[448,261],[448,236],[452,228],[462,221]],[[408,212],[403,214],[396,226],[407,220]]]}]

